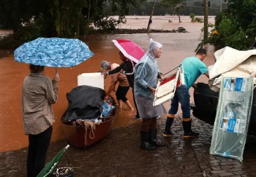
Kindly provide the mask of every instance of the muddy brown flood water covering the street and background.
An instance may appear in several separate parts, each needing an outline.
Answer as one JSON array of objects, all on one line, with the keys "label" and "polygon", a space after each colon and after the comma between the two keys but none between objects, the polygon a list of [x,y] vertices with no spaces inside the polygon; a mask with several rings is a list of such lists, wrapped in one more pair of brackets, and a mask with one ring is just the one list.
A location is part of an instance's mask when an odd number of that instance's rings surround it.
[{"label": "muddy brown flood water covering the street and background", "polygon": [[[203,18],[203,17],[201,17]],[[173,21],[169,23],[169,19]],[[90,50],[95,53],[93,57],[82,62],[82,64],[71,68],[58,68],[60,74],[58,103],[53,105],[55,112],[55,124],[53,125],[52,141],[63,139],[63,131],[60,126],[60,118],[68,107],[66,93],[78,86],[78,75],[87,72],[100,71],[100,62],[107,60],[120,63],[117,47],[111,40],[122,38],[132,40],[146,51],[149,45],[149,38],[161,42],[163,54],[158,59],[159,69],[162,73],[168,72],[177,67],[185,57],[194,56],[198,43],[203,37],[201,28],[203,23],[191,23],[188,16],[181,16],[182,23],[178,23],[176,16],[153,16],[151,28],[173,30],[178,27],[186,28],[188,33],[149,33],[149,34],[125,34],[125,35],[87,35],[85,42]],[[119,25],[119,28],[146,28],[149,16],[127,16],[127,23]],[[209,22],[213,23],[214,17],[209,17]],[[207,66],[214,63],[213,47],[208,47],[208,55],[204,62]],[[47,67],[46,75],[53,78],[54,68]],[[14,55],[0,59],[0,152],[21,149],[28,146],[28,137],[23,134],[21,117],[21,88],[23,79],[28,75],[28,64],[14,62]],[[207,82],[206,76],[201,76],[198,81]],[[108,88],[110,76],[105,79],[105,89]],[[191,89],[191,93],[193,89]],[[114,93],[112,93],[114,96]],[[191,94],[193,96],[193,94]],[[115,97],[115,96],[114,96]],[[127,98],[134,106],[132,101],[132,91],[128,92]],[[191,97],[191,101],[193,98]],[[164,103],[166,110],[169,110],[170,102]],[[134,111],[119,108],[117,117],[114,120],[114,127],[129,126],[133,123],[131,118],[135,115]]]}]

